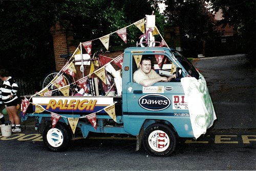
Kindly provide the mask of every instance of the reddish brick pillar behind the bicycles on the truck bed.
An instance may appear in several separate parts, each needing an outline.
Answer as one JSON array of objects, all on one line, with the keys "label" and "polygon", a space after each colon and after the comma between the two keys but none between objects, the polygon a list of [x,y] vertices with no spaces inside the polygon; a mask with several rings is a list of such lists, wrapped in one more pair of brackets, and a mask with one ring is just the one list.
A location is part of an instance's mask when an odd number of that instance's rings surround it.
[{"label": "reddish brick pillar behind the bicycles on the truck bed", "polygon": [[66,63],[65,59],[60,58],[62,54],[72,54],[76,47],[73,45],[73,28],[67,20],[60,20],[50,29],[53,37],[53,47],[56,70],[60,70]]}]

